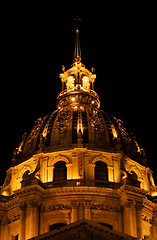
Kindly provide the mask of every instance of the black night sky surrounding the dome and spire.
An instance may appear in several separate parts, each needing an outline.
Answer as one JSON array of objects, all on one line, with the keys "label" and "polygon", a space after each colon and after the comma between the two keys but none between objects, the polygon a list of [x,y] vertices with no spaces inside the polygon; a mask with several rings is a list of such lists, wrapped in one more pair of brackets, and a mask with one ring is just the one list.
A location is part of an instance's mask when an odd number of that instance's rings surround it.
[{"label": "black night sky surrounding the dome and spire", "polygon": [[122,119],[157,172],[154,7],[99,6],[85,14],[74,9],[42,5],[2,9],[0,185],[21,136],[37,118],[56,108],[62,65],[68,69],[73,61],[77,15],[83,19],[82,62],[89,70],[96,69],[101,108]]}]

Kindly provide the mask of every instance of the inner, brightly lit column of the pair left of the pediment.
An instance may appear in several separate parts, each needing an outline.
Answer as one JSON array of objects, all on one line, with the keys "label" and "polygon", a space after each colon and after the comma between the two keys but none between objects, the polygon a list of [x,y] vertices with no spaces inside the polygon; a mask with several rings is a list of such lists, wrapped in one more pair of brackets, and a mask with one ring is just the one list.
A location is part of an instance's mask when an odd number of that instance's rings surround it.
[{"label": "inner, brightly lit column of the pair left of the pediment", "polygon": [[26,209],[26,239],[36,237],[39,233],[39,201],[31,199]]}]

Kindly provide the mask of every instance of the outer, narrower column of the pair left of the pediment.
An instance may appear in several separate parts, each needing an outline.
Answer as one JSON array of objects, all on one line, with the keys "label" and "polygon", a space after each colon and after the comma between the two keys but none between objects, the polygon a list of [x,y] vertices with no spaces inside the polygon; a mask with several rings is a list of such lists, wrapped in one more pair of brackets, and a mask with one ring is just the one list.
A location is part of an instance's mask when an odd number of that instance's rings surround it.
[{"label": "outer, narrower column of the pair left of the pediment", "polygon": [[26,229],[26,203],[21,203],[20,208],[20,226],[19,226],[19,240],[25,240]]}]

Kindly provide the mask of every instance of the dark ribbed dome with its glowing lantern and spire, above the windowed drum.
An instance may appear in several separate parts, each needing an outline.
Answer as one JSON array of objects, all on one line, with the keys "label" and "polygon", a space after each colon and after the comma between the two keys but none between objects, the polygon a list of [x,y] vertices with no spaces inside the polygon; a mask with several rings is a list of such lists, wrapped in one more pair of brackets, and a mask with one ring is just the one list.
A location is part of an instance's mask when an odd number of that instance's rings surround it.
[{"label": "dark ribbed dome with its glowing lantern and spire, above the windowed drum", "polygon": [[120,119],[100,109],[94,91],[96,75],[81,63],[79,30],[76,31],[74,63],[60,74],[62,92],[57,110],[39,118],[14,152],[13,162],[19,164],[39,152],[85,147],[87,149],[123,152],[145,165],[145,156],[136,138],[129,134]]}]

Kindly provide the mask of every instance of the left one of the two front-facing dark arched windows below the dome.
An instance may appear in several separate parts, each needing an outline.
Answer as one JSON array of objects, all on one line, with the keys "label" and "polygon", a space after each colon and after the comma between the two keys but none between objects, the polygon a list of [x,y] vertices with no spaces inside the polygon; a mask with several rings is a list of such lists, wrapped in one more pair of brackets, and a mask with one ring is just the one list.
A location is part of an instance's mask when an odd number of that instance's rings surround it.
[{"label": "left one of the two front-facing dark arched windows below the dome", "polygon": [[54,181],[66,179],[67,179],[66,163],[64,161],[56,162],[54,165]]}]

